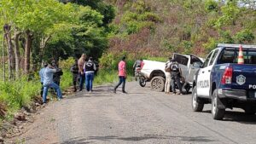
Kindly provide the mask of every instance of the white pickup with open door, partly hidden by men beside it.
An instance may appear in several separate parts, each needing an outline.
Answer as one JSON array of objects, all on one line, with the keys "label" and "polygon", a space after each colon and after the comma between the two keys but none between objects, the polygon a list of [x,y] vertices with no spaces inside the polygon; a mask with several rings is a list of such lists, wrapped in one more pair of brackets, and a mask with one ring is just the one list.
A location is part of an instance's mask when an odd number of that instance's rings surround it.
[{"label": "white pickup with open door, partly hidden by men beside it", "polygon": [[[180,55],[173,54],[172,59],[177,60],[182,70],[183,92],[188,93],[189,89],[193,86],[193,78],[195,72],[202,66],[203,60],[195,55]],[[143,60],[144,66],[141,70],[141,75],[150,81],[150,87],[154,91],[163,91],[165,89],[166,72],[165,62]]]}]

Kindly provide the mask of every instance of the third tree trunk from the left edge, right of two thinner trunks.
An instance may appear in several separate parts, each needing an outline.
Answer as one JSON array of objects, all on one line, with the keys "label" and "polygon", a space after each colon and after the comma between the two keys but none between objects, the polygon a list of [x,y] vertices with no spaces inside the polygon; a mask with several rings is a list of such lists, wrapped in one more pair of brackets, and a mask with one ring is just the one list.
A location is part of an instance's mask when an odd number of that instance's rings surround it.
[{"label": "third tree trunk from the left edge, right of two thinner trunks", "polygon": [[32,33],[30,31],[26,31],[25,61],[24,61],[25,74],[28,74],[30,70],[31,48],[32,48]]}]

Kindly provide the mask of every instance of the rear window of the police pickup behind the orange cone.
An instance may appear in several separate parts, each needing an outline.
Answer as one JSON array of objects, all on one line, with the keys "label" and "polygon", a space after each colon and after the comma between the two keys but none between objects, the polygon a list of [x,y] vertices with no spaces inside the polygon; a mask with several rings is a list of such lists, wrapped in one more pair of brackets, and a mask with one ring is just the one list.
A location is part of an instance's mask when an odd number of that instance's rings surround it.
[{"label": "rear window of the police pickup behind the orange cone", "polygon": [[[239,49],[224,49],[218,58],[218,64],[237,63]],[[256,49],[243,49],[245,64],[256,64]]]}]

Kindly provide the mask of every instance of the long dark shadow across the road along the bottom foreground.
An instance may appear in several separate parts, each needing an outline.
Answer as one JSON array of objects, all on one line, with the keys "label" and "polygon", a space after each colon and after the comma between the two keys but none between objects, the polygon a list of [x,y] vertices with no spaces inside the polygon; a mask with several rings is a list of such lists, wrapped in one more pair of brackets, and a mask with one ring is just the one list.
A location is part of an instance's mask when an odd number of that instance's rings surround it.
[{"label": "long dark shadow across the road along the bottom foreground", "polygon": [[94,141],[111,141],[111,140],[120,140],[120,141],[143,141],[143,140],[172,140],[173,138],[179,138],[180,141],[198,141],[198,142],[211,142],[214,140],[207,139],[206,136],[171,136],[171,135],[143,135],[143,136],[131,136],[131,137],[119,137],[114,135],[108,136],[90,136],[88,138],[76,137],[68,141],[63,141],[61,144],[66,143],[90,143]]}]

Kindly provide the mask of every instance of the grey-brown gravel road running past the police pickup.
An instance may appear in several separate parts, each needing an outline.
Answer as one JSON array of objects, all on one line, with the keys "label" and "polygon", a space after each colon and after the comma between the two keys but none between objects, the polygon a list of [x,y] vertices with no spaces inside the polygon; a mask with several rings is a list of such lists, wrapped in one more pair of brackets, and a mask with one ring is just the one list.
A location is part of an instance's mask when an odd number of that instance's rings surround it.
[{"label": "grey-brown gravel road running past the police pickup", "polygon": [[[191,95],[165,95],[137,83],[129,94],[112,87],[50,103],[15,141],[34,143],[255,143],[256,115],[236,109],[223,121],[211,107],[191,111]],[[14,140],[13,140],[14,141]]]}]

